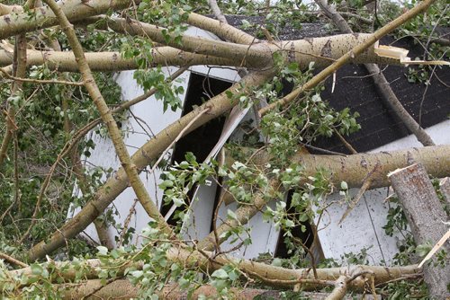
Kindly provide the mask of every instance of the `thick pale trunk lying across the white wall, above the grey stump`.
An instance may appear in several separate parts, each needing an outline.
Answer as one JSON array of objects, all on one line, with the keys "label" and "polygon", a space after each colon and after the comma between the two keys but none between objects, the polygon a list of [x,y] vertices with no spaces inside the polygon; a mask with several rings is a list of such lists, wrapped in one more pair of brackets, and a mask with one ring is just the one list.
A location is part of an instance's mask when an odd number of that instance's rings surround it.
[{"label": "thick pale trunk lying across the white wall, above the grey stump", "polygon": [[[245,157],[253,157],[253,163],[258,165],[266,164],[270,157],[266,152],[252,154],[249,149],[242,149]],[[402,168],[412,162],[424,163],[428,172],[435,177],[444,177],[450,173],[450,146],[433,146],[425,148],[413,148],[393,152],[383,152],[378,154],[352,154],[347,156],[338,155],[312,155],[296,154],[292,162],[303,166],[303,178],[314,176],[317,170],[323,169],[329,172],[329,181],[335,186],[346,181],[348,187],[361,187],[368,172],[376,170],[371,175],[368,189],[386,187],[390,185],[386,175],[392,170]],[[234,161],[227,157],[226,163],[231,166]],[[376,166],[376,169],[375,169]],[[298,182],[298,185],[305,181]],[[270,181],[268,187],[270,191],[277,190],[281,185],[276,180]],[[270,197],[271,192],[257,192],[252,204],[242,205],[236,210],[237,220],[227,220],[216,228],[218,236],[229,231],[231,227],[247,224],[248,220],[257,214],[258,211],[266,207],[267,203],[274,198]],[[216,234],[208,234],[197,247],[199,249],[211,251],[217,247],[217,243],[223,243],[224,238],[216,241]]]}]

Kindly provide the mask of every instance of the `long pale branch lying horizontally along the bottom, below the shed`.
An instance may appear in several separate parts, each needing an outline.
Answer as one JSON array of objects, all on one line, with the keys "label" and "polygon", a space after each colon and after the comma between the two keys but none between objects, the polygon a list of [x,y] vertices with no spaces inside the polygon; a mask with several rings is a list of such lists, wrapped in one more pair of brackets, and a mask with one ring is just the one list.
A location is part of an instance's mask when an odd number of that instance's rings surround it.
[{"label": "long pale branch lying horizontally along the bottom, below the shed", "polygon": [[[198,267],[207,273],[220,269],[224,265],[232,265],[252,278],[263,280],[268,286],[293,287],[300,284],[302,290],[316,290],[328,286],[330,282],[332,284],[342,274],[358,274],[348,284],[348,288],[359,291],[365,289],[367,279],[365,275],[367,274],[374,277],[376,285],[383,285],[383,283],[396,278],[414,278],[419,274],[416,265],[401,267],[356,265],[343,268],[317,269],[317,278],[315,278],[311,268],[285,269],[252,260],[236,259],[224,254],[214,256],[209,251],[187,250],[183,245],[174,246],[166,251],[166,259],[172,263],[179,263],[184,268]],[[4,284],[11,284],[11,280],[21,280],[20,278],[27,278],[28,280],[17,284],[19,288],[35,283],[35,279],[49,280],[50,282],[57,282],[58,280],[59,282],[60,280],[74,281],[76,278],[95,279],[102,271],[102,266],[101,260],[50,261],[40,264],[42,269],[58,270],[58,272],[49,272],[49,278],[41,278],[40,275],[34,274],[31,267],[10,270],[7,271],[8,274],[3,279],[4,281],[0,281],[0,290],[4,287]],[[141,262],[123,260],[109,261],[105,265],[105,268],[109,270],[115,269],[114,274],[117,278],[123,277],[125,269],[142,269],[142,267],[143,263]]]}]

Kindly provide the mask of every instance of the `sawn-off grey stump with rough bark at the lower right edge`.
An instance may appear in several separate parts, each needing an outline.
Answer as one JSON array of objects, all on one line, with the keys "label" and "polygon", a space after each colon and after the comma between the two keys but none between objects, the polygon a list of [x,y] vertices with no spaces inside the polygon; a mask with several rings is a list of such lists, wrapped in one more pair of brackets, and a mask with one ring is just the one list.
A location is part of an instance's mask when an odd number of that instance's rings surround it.
[{"label": "sawn-off grey stump with rough bark at the lower right edge", "polygon": [[[446,214],[441,207],[427,170],[421,163],[396,170],[389,175],[392,188],[400,199],[401,207],[410,224],[416,243],[437,243],[446,234]],[[450,253],[448,242],[443,246]],[[428,284],[430,296],[446,299],[450,296],[447,285],[450,284],[450,263],[446,266],[424,266],[424,278]]]}]

